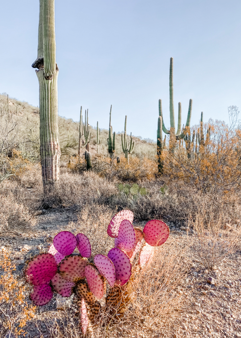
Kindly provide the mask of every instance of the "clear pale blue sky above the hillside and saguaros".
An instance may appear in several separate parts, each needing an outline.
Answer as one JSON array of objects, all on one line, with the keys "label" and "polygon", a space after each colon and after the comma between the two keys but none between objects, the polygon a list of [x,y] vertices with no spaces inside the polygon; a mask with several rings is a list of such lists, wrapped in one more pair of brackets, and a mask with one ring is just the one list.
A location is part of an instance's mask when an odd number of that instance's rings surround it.
[{"label": "clear pale blue sky above the hillside and saguaros", "polygon": [[[0,93],[38,105],[38,0],[0,2]],[[174,58],[174,106],[186,122],[228,122],[241,108],[240,0],[56,0],[59,115],[156,139],[158,99],[169,122],[169,63]],[[176,121],[177,126],[177,121]]]}]

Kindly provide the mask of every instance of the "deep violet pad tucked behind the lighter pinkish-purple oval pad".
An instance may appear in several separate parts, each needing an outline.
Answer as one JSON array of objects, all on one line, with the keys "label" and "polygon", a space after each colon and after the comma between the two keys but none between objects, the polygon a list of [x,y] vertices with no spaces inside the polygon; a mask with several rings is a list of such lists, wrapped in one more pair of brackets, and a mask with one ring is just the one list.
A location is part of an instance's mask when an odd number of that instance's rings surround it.
[{"label": "deep violet pad tucked behind the lighter pinkish-purple oval pad", "polygon": [[108,258],[115,267],[115,284],[126,284],[131,276],[131,263],[129,257],[119,248],[112,248],[108,252]]}]

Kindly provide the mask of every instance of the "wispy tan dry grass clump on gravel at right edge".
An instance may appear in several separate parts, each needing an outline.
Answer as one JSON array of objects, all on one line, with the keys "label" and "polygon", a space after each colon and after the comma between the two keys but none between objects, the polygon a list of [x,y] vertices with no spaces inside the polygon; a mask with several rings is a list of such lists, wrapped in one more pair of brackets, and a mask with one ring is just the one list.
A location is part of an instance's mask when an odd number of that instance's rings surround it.
[{"label": "wispy tan dry grass clump on gravel at right edge", "polygon": [[206,268],[213,269],[241,248],[241,227],[226,223],[222,210],[215,218],[212,213],[207,217],[204,209],[198,210],[188,225],[194,231],[194,236],[188,236],[192,255]]}]

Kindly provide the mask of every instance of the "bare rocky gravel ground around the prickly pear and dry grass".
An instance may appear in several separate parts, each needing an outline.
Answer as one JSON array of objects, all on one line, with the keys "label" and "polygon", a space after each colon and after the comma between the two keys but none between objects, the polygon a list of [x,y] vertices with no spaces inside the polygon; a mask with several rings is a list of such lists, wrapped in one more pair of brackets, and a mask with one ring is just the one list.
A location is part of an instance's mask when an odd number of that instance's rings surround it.
[{"label": "bare rocky gravel ground around the prickly pear and dry grass", "polygon": [[[20,277],[28,259],[39,252],[46,252],[55,234],[65,230],[70,221],[77,221],[77,210],[43,210],[36,217],[37,224],[27,234],[0,238],[0,249],[11,250],[10,257],[12,263],[16,264],[16,272]],[[185,227],[180,223],[169,222],[168,225],[170,244],[172,241],[180,245],[186,244]],[[73,232],[74,230],[73,228]],[[212,271],[192,260],[188,276],[177,292],[186,301],[175,319],[175,324],[155,330],[153,334],[145,330],[143,325],[142,331],[136,337],[241,337],[240,252],[225,258]],[[56,309],[56,303],[58,304],[53,298],[48,305],[37,309],[38,329],[35,324],[28,325],[29,334],[26,337],[50,337],[44,319],[61,317],[61,310]]]}]

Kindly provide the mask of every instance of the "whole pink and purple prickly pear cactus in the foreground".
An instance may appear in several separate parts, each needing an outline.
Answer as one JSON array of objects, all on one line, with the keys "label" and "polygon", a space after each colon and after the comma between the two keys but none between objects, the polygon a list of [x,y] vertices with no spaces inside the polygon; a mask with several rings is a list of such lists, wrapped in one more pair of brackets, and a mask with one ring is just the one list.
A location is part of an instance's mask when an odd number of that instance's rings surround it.
[{"label": "whole pink and purple prickly pear cactus in the foreground", "polygon": [[[148,265],[156,246],[169,236],[168,226],[159,220],[146,223],[143,230],[133,227],[133,213],[122,210],[110,221],[107,233],[114,238],[108,255],[91,256],[91,246],[84,234],[68,231],[58,233],[48,253],[39,254],[28,262],[26,280],[33,285],[30,299],[45,305],[54,292],[63,297],[75,293],[81,314],[83,334],[91,333],[91,324],[100,316],[99,299],[106,297],[106,313],[123,314],[131,301],[131,284],[135,274]],[[74,253],[78,249],[79,253]]]}]

